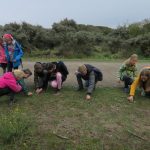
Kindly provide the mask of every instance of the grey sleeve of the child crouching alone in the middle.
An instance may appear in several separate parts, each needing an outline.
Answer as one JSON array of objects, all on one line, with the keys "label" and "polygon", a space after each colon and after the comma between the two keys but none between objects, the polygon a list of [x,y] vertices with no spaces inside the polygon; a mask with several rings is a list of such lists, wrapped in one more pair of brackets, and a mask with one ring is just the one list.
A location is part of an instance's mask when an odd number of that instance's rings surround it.
[{"label": "grey sleeve of the child crouching alone in the middle", "polygon": [[95,74],[94,71],[92,71],[89,76],[89,86],[87,89],[87,94],[91,94],[93,92],[94,86],[95,86]]}]

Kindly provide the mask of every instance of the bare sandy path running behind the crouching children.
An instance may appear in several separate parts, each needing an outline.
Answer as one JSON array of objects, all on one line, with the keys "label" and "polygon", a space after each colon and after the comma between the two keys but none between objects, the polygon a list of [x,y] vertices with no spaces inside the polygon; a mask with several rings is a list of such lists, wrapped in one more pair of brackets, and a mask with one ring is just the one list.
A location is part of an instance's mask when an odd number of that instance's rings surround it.
[{"label": "bare sandy path running behind the crouching children", "polygon": [[[77,86],[76,77],[74,75],[74,72],[77,70],[78,66],[82,64],[91,64],[97,68],[99,68],[103,73],[103,81],[99,82],[97,86],[102,87],[115,87],[115,86],[121,86],[117,83],[117,72],[118,68],[120,67],[120,62],[94,62],[94,61],[66,61],[65,62],[69,75],[67,80],[64,82],[64,85],[70,85],[70,86]],[[34,62],[23,62],[24,68],[30,68],[33,71]],[[138,64],[138,69],[140,70],[143,66],[148,66],[149,63],[140,63]],[[0,74],[2,74],[2,71],[0,70]],[[33,75],[27,79],[27,84],[33,84]]]}]

